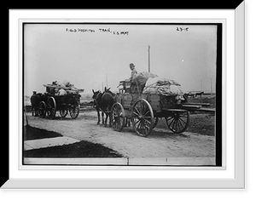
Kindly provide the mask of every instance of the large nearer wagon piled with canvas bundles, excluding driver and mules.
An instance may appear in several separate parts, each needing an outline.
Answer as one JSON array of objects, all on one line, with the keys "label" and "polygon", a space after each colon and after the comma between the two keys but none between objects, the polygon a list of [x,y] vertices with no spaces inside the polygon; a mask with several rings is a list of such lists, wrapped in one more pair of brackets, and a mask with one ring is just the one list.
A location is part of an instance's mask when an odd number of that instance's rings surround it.
[{"label": "large nearer wagon piled with canvas bundles, excluding driver and mules", "polygon": [[[166,119],[166,125],[173,133],[182,133],[189,126],[189,110],[198,110],[200,106],[189,105],[179,88],[180,84],[165,79],[159,82],[162,86],[153,84],[132,84],[130,81],[119,83],[117,102],[112,106],[112,127],[121,131],[126,120],[131,120],[133,129],[141,136],[148,136],[157,125],[160,117]],[[171,90],[172,91],[171,91]],[[186,103],[186,105],[184,105]]]}]

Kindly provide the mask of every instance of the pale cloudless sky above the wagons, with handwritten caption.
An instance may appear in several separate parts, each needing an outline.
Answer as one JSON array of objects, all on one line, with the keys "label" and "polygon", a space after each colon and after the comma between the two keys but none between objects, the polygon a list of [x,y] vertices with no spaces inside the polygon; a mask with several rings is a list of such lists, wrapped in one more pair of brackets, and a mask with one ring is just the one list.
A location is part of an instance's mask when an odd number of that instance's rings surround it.
[{"label": "pale cloudless sky above the wagons, with handwritten caption", "polygon": [[[44,93],[43,84],[68,80],[84,94],[148,71],[181,84],[183,92],[215,91],[217,26],[26,24],[24,89]],[[107,85],[108,84],[108,85]]]}]

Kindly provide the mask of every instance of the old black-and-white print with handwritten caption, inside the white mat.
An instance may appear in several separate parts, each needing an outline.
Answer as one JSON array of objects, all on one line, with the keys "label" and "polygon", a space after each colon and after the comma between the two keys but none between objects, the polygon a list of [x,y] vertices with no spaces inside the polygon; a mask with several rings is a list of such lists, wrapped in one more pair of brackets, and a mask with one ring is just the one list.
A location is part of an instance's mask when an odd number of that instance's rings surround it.
[{"label": "old black-and-white print with handwritten caption, inside the white mat", "polygon": [[23,165],[222,166],[222,31],[23,23]]}]

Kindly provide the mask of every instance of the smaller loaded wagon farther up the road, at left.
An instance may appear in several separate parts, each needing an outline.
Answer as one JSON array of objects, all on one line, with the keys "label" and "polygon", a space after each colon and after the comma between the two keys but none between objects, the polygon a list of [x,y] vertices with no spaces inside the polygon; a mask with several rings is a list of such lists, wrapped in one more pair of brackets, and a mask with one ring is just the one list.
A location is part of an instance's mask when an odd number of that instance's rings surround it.
[{"label": "smaller loaded wagon farther up the road, at left", "polygon": [[[55,84],[43,84],[46,92],[40,96],[38,105],[39,117],[45,117],[46,114],[50,119],[55,118],[56,111],[60,111],[61,117],[66,117],[69,111],[70,117],[73,119],[79,116],[80,97],[79,92],[83,89],[75,89],[73,87],[65,87]],[[64,91],[63,94],[56,91]]]}]

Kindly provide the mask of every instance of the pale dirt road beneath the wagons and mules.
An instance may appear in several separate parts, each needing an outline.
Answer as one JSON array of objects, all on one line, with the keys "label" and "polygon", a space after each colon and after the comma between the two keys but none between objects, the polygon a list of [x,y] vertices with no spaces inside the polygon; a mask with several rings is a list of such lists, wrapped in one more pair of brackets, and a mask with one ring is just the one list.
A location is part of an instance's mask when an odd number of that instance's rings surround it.
[{"label": "pale dirt road beneath the wagons and mules", "polygon": [[141,137],[136,134],[132,127],[114,131],[97,125],[96,111],[80,111],[79,117],[72,119],[58,117],[54,120],[49,118],[32,117],[27,113],[30,126],[55,131],[64,136],[77,140],[86,140],[102,144],[124,157],[184,157],[211,158],[210,164],[215,164],[215,137],[209,135],[184,132],[172,134],[169,129],[160,129],[158,126],[148,137]]}]

